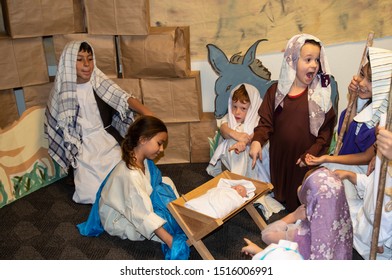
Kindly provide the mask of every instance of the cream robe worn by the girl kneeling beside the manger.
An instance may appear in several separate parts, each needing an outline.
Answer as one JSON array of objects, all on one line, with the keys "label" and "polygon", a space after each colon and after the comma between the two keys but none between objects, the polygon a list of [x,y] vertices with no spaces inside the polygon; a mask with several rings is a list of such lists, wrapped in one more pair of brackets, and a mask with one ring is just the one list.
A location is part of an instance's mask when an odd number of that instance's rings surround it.
[{"label": "cream robe worn by the girl kneeling beside the manger", "polygon": [[[124,161],[115,167],[102,189],[99,216],[110,235],[134,241],[152,239],[162,242],[154,231],[166,221],[153,211],[150,199],[153,190],[146,161],[145,167],[146,174],[140,169],[130,170]],[[167,179],[162,178],[175,190]]]}]

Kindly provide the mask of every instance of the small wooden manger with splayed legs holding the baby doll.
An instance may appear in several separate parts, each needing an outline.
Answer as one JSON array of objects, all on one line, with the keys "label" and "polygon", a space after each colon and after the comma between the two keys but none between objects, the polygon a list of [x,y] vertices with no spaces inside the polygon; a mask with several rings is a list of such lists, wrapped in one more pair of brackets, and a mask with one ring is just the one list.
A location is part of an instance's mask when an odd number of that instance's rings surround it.
[{"label": "small wooden manger with splayed legs holding the baby doll", "polygon": [[[241,180],[245,179],[253,182],[256,187],[255,195],[244,204],[242,204],[238,209],[233,210],[225,217],[213,218],[202,213],[196,212],[192,209],[189,209],[185,206],[185,202],[199,197],[200,195],[206,193],[209,189],[214,188],[218,185],[218,182],[221,178],[230,179],[230,180]],[[213,260],[214,257],[211,255],[210,251],[204,245],[202,239],[206,237],[208,234],[213,232],[218,227],[222,226],[225,222],[230,220],[232,217],[237,215],[242,210],[248,211],[249,215],[259,227],[260,230],[263,230],[267,225],[264,222],[263,218],[260,216],[259,212],[256,210],[253,203],[263,195],[266,195],[273,189],[273,186],[270,183],[265,183],[257,180],[253,180],[241,175],[237,175],[231,173],[229,171],[224,171],[219,176],[211,179],[210,181],[204,183],[203,185],[197,187],[196,189],[188,192],[185,195],[182,195],[180,198],[172,201],[168,204],[168,209],[173,217],[176,219],[177,223],[180,225],[182,230],[188,237],[188,245],[195,246],[197,252],[204,260]]]}]

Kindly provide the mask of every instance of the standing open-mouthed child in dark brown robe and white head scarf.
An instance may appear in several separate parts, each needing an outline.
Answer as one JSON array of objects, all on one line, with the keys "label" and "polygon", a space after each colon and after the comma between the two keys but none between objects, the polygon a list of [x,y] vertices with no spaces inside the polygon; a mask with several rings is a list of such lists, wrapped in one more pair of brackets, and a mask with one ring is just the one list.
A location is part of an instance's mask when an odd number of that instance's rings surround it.
[{"label": "standing open-mouthed child in dark brown robe and white head scarf", "polygon": [[249,152],[252,166],[264,161],[262,147],[269,140],[275,199],[289,211],[299,206],[297,188],[309,170],[305,155],[325,154],[332,139],[336,113],[331,78],[320,40],[295,35],[287,44],[279,81],[267,90],[259,109]]}]

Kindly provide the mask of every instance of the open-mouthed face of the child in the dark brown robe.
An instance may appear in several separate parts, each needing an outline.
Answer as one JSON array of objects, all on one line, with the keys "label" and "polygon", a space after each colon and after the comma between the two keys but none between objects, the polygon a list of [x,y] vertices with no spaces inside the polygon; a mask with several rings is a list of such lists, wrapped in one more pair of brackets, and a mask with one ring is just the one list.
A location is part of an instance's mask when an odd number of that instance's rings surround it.
[{"label": "open-mouthed face of the child in the dark brown robe", "polygon": [[299,87],[306,88],[312,83],[319,69],[320,47],[305,43],[301,48],[297,62],[295,84]]}]

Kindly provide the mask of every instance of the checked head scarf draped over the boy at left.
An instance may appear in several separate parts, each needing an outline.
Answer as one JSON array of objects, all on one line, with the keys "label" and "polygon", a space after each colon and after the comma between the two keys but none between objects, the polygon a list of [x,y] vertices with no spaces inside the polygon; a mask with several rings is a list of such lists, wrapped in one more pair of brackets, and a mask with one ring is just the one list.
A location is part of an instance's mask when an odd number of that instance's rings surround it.
[{"label": "checked head scarf draped over the boy at left", "polygon": [[[76,158],[82,152],[82,128],[79,123],[79,104],[76,96],[76,60],[82,43],[82,41],[72,41],[64,47],[45,112],[48,152],[64,169],[67,169],[70,164],[76,168]],[[97,68],[94,50],[93,59],[94,70],[90,83],[95,93],[117,111],[112,125],[121,135],[125,135],[129,124],[134,120],[133,112],[127,103],[132,95],[123,91]]]}]

